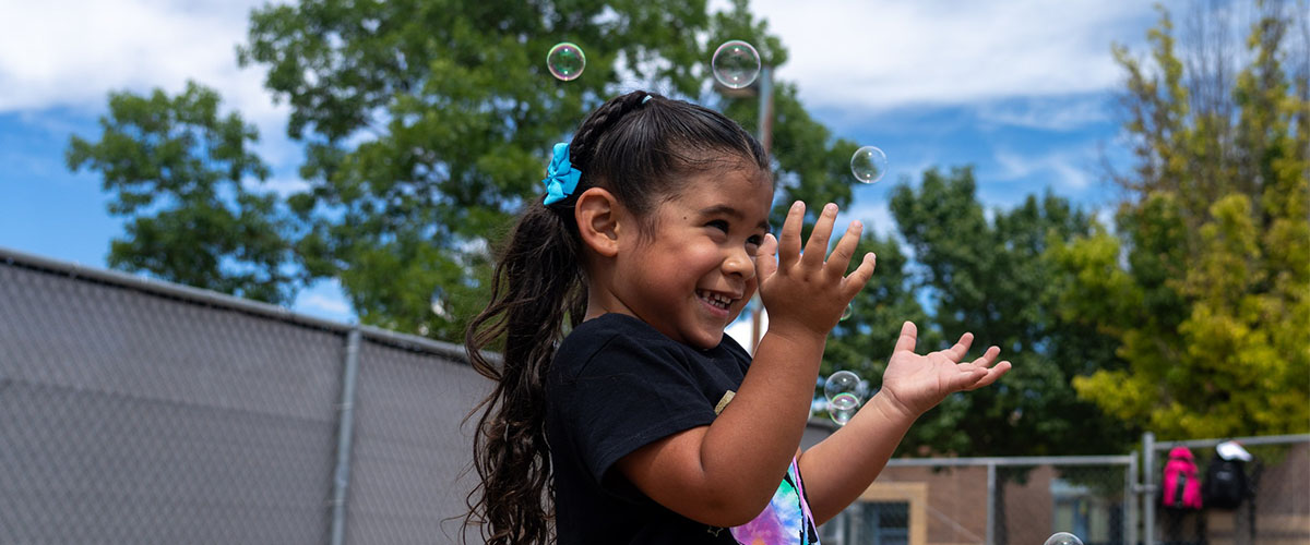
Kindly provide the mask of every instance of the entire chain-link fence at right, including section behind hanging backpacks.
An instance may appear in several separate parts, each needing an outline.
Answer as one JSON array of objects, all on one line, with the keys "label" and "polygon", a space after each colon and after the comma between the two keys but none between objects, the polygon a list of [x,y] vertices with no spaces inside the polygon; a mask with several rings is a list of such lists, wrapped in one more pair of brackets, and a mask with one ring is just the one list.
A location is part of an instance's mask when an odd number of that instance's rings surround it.
[{"label": "entire chain-link fence at right, including section behind hanging backpacks", "polygon": [[1200,478],[1225,439],[1155,443],[1138,456],[891,460],[858,502],[823,527],[832,545],[1043,544],[1070,532],[1086,545],[1310,544],[1310,435],[1237,438],[1251,494],[1235,508],[1161,506],[1163,454],[1195,451]]}]

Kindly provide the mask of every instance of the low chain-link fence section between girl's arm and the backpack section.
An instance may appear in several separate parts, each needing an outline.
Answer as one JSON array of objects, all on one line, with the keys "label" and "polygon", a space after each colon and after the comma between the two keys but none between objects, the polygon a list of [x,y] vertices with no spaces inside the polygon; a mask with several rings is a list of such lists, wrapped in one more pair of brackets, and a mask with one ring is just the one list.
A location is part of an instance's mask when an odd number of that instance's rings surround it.
[{"label": "low chain-link fence section between girl's arm and the backpack section", "polygon": [[824,544],[1133,542],[1134,456],[891,460]]}]

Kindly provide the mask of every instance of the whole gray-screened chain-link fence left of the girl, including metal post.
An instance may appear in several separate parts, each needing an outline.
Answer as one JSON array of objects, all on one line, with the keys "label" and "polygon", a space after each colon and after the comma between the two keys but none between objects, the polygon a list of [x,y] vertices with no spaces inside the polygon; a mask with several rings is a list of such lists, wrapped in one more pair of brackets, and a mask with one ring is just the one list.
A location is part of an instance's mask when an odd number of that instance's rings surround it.
[{"label": "whole gray-screened chain-link fence left of the girl, including metal post", "polygon": [[455,542],[461,349],[0,251],[0,542]]}]

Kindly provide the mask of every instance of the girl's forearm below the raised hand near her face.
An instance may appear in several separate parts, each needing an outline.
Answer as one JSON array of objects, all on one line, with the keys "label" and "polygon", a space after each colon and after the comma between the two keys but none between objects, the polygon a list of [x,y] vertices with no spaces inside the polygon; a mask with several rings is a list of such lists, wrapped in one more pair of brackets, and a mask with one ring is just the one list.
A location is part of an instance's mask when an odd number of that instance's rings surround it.
[{"label": "girl's forearm below the raised hand near her face", "polygon": [[702,443],[717,490],[734,490],[761,508],[768,503],[800,444],[823,348],[824,339],[812,335],[770,331],[761,339],[741,387]]}]

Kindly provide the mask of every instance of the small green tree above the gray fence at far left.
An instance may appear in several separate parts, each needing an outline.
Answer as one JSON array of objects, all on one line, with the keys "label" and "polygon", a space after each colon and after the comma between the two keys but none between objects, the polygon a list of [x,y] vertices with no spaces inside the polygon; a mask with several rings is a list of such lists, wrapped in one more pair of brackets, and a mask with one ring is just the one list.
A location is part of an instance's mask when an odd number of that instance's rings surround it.
[{"label": "small green tree above the gray fence at far left", "polygon": [[276,196],[250,188],[269,176],[250,149],[258,132],[219,105],[195,82],[177,97],[114,93],[100,140],[71,139],[68,167],[98,171],[110,213],[128,218],[110,267],[288,303],[299,285],[291,225]]}]

